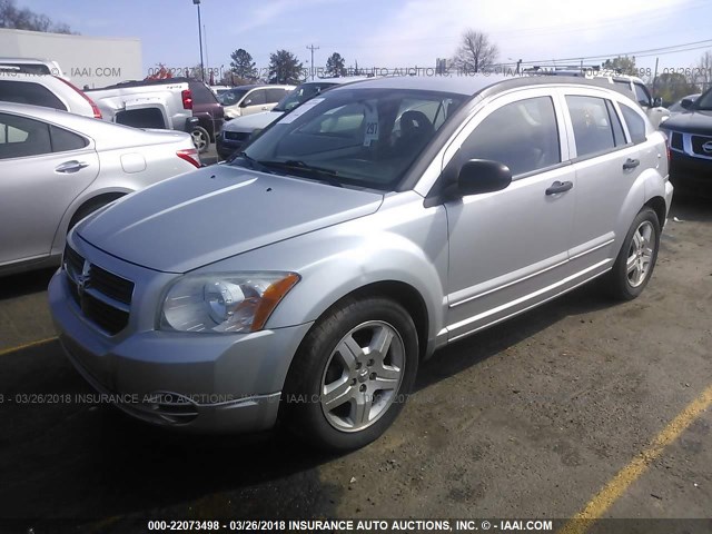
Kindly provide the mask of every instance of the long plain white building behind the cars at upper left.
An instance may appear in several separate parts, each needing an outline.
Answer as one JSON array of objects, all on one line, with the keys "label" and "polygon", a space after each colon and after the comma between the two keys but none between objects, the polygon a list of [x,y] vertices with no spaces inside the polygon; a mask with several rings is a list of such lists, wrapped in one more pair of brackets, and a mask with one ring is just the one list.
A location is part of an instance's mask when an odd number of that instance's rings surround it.
[{"label": "long plain white building behind the cars at upper left", "polygon": [[0,57],[57,61],[80,89],[140,80],[141,40],[137,38],[68,36],[0,28]]}]

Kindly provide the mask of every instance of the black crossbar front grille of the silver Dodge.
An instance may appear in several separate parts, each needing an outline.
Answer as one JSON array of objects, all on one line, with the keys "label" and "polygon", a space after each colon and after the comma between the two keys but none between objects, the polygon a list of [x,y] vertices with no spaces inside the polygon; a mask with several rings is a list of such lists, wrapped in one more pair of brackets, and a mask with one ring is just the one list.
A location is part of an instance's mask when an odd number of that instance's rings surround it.
[{"label": "black crossbar front grille of the silver Dodge", "polygon": [[126,328],[134,283],[90,264],[69,245],[63,266],[69,293],[82,315],[112,336]]}]

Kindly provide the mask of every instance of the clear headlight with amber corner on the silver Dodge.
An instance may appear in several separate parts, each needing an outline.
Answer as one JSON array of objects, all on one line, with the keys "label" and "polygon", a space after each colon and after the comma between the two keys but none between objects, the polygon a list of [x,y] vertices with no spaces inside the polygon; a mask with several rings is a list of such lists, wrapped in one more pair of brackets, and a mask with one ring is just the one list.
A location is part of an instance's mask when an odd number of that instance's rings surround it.
[{"label": "clear headlight with amber corner on the silver Dodge", "polygon": [[185,276],[166,295],[160,328],[207,334],[260,330],[297,281],[296,273]]}]

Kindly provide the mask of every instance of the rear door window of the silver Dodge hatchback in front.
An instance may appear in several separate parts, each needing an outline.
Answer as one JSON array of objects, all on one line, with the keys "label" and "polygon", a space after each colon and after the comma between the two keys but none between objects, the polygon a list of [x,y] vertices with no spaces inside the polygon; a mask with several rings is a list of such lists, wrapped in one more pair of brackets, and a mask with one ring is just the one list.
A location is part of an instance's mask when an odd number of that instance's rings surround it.
[{"label": "rear door window of the silver Dodge hatchback in front", "polygon": [[606,100],[570,95],[566,97],[566,103],[574,128],[578,158],[603,154],[615,148]]}]

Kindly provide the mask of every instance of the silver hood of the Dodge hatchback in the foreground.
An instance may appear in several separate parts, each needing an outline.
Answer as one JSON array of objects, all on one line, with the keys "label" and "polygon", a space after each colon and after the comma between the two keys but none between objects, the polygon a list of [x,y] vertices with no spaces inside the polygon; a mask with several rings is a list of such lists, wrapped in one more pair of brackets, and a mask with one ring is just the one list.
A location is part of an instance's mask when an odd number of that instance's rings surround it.
[{"label": "silver hood of the Dodge hatchback in the foreground", "polygon": [[373,214],[382,201],[377,192],[219,165],[123,197],[77,233],[120,259],[186,273]]}]

